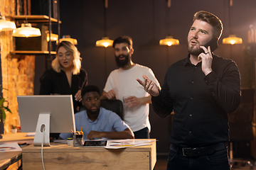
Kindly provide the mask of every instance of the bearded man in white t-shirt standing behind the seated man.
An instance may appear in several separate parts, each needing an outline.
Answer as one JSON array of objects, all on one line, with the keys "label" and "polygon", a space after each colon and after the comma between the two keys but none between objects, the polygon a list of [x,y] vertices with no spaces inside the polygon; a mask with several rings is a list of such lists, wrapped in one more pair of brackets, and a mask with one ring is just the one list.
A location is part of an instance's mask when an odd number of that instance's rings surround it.
[{"label": "bearded man in white t-shirt standing behind the seated man", "polygon": [[101,99],[117,98],[124,103],[124,122],[134,132],[136,139],[149,139],[149,103],[151,96],[138,84],[137,78],[145,74],[160,87],[149,67],[132,62],[132,38],[119,37],[113,42],[115,60],[119,69],[114,69],[107,78]]}]

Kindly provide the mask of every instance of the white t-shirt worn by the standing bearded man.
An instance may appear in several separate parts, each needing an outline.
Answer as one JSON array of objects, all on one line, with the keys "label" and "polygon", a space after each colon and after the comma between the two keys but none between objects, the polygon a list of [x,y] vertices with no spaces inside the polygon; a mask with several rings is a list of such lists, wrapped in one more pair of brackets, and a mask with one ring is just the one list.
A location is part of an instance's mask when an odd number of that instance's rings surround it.
[{"label": "white t-shirt worn by the standing bearded man", "polygon": [[[126,98],[128,96],[136,96],[137,98],[149,96],[149,94],[144,91],[144,87],[136,80],[139,78],[144,81],[142,78],[143,74],[159,86],[159,81],[157,81],[154,73],[149,67],[135,64],[134,67],[127,70],[122,68],[114,69],[107,78],[104,91],[108,92],[113,90],[117,95],[116,98],[121,101],[123,101],[124,96]],[[149,103],[133,106],[132,108],[124,106],[124,122],[129,125],[133,132],[146,127],[149,128],[150,132]]]}]

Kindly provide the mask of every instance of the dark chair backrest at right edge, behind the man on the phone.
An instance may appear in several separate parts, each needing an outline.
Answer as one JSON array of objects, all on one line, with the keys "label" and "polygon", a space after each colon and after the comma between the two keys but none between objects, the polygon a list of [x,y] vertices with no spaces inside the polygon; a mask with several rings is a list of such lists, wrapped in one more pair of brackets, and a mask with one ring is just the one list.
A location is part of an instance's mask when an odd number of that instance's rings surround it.
[{"label": "dark chair backrest at right edge, behind the man on the phone", "polygon": [[241,89],[241,103],[238,109],[228,115],[230,141],[253,140],[252,117],[255,89]]}]

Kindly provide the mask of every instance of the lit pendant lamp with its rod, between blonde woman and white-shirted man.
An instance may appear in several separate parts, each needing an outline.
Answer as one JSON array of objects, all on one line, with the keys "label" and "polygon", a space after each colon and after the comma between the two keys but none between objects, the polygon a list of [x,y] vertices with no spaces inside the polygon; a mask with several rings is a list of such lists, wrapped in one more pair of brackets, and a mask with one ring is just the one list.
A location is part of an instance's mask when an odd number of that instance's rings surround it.
[{"label": "lit pendant lamp with its rod, between blonde woman and white-shirted man", "polygon": [[108,7],[107,0],[105,0],[105,6],[104,6],[104,32],[105,32],[105,37],[102,38],[102,40],[97,40],[96,41],[96,46],[97,47],[109,47],[112,46],[113,40],[110,40],[110,38],[107,37],[107,19],[106,19],[106,8]]}]

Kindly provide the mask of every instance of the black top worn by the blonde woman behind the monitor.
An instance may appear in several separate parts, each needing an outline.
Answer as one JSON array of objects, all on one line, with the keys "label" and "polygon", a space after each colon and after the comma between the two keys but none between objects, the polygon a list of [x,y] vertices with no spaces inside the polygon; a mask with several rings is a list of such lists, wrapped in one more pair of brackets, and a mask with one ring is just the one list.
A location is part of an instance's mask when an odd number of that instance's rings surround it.
[{"label": "black top worn by the blonde woman behind the monitor", "polygon": [[72,94],[74,112],[77,113],[78,106],[81,105],[79,101],[75,101],[75,94],[78,90],[82,90],[87,85],[87,72],[80,69],[80,73],[72,75],[71,87],[68,83],[68,78],[63,70],[60,73],[55,72],[53,69],[48,69],[43,73],[40,78],[40,94]]}]

